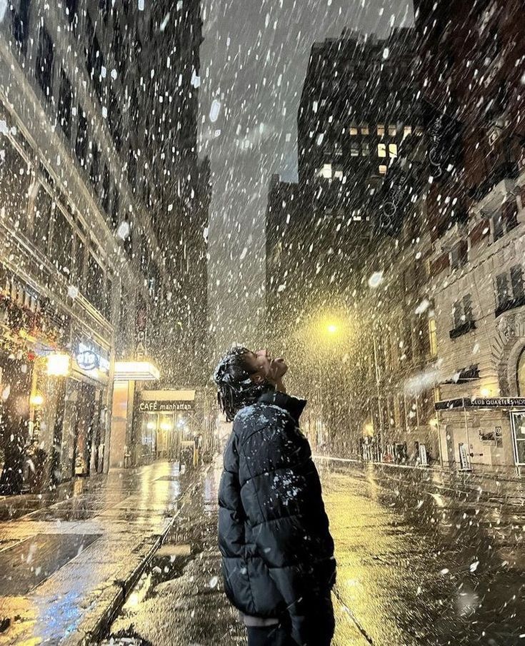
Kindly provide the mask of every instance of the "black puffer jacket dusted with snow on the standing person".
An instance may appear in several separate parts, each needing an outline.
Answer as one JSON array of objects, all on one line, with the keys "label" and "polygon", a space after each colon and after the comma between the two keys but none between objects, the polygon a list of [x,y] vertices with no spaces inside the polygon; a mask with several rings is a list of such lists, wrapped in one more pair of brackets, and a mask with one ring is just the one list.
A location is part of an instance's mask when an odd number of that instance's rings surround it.
[{"label": "black puffer jacket dusted with snow on the standing person", "polygon": [[239,410],[219,488],[226,595],[246,615],[289,615],[299,644],[311,643],[336,569],[319,474],[299,430],[305,405],[272,392]]}]

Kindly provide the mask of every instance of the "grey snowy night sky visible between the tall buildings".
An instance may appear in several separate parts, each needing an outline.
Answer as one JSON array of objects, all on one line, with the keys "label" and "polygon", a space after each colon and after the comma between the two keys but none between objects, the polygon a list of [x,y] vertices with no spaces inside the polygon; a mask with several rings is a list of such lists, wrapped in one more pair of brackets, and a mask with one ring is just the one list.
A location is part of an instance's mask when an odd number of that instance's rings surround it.
[{"label": "grey snowy night sky visible between the tall buildings", "polygon": [[[410,0],[203,0],[201,154],[211,158],[215,351],[259,345],[269,180],[296,179],[296,116],[314,41],[413,24]],[[212,351],[213,351],[212,346]]]}]

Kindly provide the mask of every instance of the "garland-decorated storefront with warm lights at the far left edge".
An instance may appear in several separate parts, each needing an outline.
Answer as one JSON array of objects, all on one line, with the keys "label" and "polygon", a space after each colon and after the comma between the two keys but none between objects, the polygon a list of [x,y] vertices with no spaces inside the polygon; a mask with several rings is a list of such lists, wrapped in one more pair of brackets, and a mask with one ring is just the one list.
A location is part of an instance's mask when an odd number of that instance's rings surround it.
[{"label": "garland-decorated storefront with warm lights at the far left edge", "polygon": [[[49,483],[59,391],[46,357],[62,349],[69,318],[0,265],[0,489],[39,491]],[[58,393],[58,394],[57,394]]]}]

